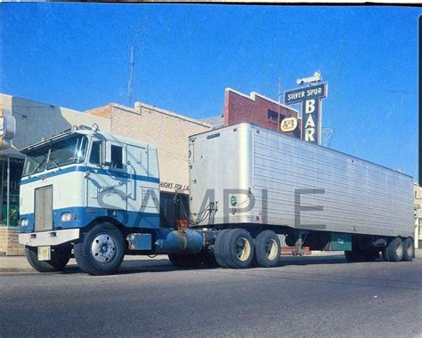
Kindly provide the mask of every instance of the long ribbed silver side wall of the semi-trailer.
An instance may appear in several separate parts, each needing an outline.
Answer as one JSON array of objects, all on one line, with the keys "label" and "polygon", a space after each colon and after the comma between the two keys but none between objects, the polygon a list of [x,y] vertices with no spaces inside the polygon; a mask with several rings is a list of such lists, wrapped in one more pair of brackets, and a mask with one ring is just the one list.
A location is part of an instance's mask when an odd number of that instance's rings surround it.
[{"label": "long ribbed silver side wall of the semi-trailer", "polygon": [[263,210],[265,223],[411,236],[413,183],[409,176],[331,149],[257,130],[254,192],[256,205],[264,202],[267,206],[266,213]]}]

